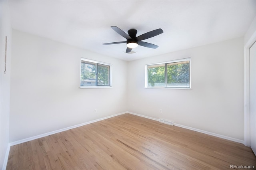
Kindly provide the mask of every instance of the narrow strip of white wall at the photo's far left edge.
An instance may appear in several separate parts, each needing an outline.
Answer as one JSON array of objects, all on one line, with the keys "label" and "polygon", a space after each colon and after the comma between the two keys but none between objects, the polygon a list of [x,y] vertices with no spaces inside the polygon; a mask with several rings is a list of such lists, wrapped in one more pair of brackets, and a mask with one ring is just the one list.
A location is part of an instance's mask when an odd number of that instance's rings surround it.
[{"label": "narrow strip of white wall at the photo's far left edge", "polygon": [[[8,1],[0,1],[0,169],[7,161],[9,143],[9,113],[10,113],[10,66],[11,66],[11,46],[12,27]],[[6,74],[5,68],[5,36],[7,36],[6,53]],[[6,158],[6,160],[4,160]]]}]

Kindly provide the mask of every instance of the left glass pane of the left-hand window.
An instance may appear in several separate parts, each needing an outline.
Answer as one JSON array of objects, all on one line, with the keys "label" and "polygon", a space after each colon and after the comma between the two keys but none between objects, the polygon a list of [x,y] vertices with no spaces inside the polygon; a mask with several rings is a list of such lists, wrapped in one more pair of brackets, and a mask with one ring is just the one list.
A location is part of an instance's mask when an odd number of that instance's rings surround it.
[{"label": "left glass pane of the left-hand window", "polygon": [[81,61],[81,86],[96,85],[96,63]]}]

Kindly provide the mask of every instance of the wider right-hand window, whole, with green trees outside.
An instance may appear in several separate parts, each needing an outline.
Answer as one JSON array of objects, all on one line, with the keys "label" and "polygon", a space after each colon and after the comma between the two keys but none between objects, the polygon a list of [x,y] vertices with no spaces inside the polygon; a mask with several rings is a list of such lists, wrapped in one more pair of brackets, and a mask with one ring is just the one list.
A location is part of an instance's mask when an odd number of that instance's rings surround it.
[{"label": "wider right-hand window, whole, with green trees outside", "polygon": [[146,65],[146,87],[190,88],[190,58]]}]

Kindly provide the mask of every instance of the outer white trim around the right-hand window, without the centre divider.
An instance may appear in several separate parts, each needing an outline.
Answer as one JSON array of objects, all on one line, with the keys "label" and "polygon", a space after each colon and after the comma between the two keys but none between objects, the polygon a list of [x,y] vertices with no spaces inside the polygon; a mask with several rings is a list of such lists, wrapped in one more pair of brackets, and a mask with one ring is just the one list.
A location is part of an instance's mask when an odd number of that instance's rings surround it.
[{"label": "outer white trim around the right-hand window, without the centre divider", "polygon": [[[175,63],[180,61],[189,61],[189,87],[148,87],[148,65],[158,65],[166,63]],[[152,63],[145,65],[145,89],[182,89],[182,90],[191,90],[191,58],[176,59],[171,61],[164,61],[160,63]]]}]

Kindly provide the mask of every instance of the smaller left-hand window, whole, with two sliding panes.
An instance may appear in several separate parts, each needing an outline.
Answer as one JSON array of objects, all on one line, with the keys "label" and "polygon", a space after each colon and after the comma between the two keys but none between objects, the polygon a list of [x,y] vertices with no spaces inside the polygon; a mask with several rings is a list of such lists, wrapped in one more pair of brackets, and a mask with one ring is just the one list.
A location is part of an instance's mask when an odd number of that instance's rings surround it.
[{"label": "smaller left-hand window, whole, with two sliding panes", "polygon": [[111,87],[111,64],[82,58],[80,87]]}]

